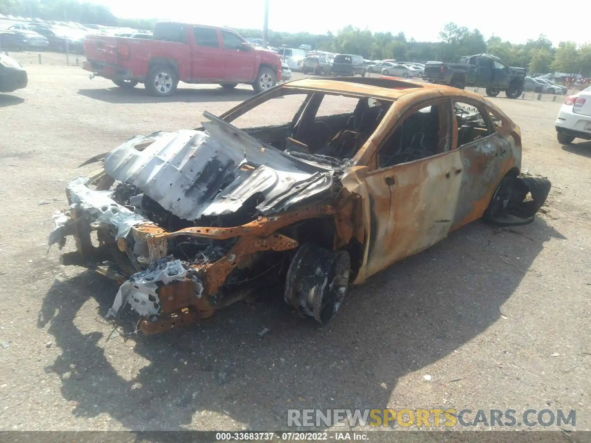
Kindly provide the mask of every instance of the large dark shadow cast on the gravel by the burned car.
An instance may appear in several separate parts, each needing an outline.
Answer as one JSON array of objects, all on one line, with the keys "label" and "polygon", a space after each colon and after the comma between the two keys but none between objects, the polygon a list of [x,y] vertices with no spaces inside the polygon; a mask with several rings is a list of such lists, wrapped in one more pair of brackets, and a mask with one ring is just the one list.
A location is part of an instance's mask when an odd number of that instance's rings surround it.
[{"label": "large dark shadow cast on the gravel by the burned car", "polygon": [[[118,288],[83,272],[54,282],[44,298],[38,327],[50,324],[61,349],[46,370],[60,377],[63,398],[77,402],[74,415],[107,413],[132,430],[211,428],[208,411],[227,416],[226,428],[233,419],[268,430],[286,428],[287,409],[384,408],[400,377],[498,321],[499,305],[527,272],[542,277],[530,266],[553,238],[564,239],[539,217],[512,229],[472,223],[350,288],[330,327],[297,318],[278,291],[161,335],[134,334],[131,313],[118,318],[123,335],[83,334],[76,323],[92,329],[93,320],[74,323],[82,305],[95,299],[103,321]],[[270,331],[258,335],[263,328]],[[132,353],[149,362],[137,374],[121,369]],[[427,404],[428,392],[414,394]]]}]

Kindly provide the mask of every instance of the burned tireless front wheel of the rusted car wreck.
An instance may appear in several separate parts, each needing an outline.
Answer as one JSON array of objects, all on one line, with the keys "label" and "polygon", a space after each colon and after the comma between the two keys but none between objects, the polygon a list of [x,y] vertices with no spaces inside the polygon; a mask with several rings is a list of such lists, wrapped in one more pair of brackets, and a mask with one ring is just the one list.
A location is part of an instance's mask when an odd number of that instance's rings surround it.
[{"label": "burned tireless front wheel of the rusted car wreck", "polygon": [[285,302],[304,317],[329,323],[345,298],[350,269],[348,252],[304,243],[287,271]]}]

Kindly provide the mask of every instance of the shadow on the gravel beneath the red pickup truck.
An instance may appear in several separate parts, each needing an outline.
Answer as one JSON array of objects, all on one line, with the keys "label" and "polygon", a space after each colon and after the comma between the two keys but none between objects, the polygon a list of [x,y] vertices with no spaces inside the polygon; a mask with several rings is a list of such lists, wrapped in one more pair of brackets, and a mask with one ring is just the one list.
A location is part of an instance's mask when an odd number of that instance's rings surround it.
[{"label": "shadow on the gravel beneath the red pickup truck", "polygon": [[170,97],[152,97],[142,86],[133,89],[110,87],[108,89],[80,89],[80,95],[107,103],[200,103],[200,102],[242,102],[255,95],[252,88],[225,90],[218,88],[178,88]]}]

